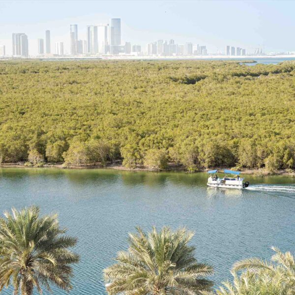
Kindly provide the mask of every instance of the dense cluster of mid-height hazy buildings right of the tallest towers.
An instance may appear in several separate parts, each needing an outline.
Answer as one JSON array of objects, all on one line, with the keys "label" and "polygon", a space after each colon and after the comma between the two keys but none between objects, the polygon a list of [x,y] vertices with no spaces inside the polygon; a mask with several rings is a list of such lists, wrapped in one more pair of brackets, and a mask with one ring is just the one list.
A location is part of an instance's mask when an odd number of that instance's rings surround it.
[{"label": "dense cluster of mid-height hazy buildings right of the tallest towers", "polygon": [[206,46],[186,42],[185,44],[176,44],[174,40],[158,40],[147,44],[147,54],[149,56],[192,56],[207,55]]}]

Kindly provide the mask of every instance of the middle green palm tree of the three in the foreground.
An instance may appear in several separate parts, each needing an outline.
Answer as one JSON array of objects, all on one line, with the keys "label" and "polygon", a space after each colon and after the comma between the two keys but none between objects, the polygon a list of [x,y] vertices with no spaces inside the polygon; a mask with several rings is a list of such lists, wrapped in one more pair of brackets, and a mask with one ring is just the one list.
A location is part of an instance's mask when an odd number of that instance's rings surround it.
[{"label": "middle green palm tree of the three in the foreground", "polygon": [[119,251],[118,263],[104,269],[106,289],[110,295],[196,295],[210,290],[205,278],[213,273],[211,266],[198,263],[193,236],[185,228],[160,232],[153,227],[148,234],[137,227],[129,234],[128,251]]}]

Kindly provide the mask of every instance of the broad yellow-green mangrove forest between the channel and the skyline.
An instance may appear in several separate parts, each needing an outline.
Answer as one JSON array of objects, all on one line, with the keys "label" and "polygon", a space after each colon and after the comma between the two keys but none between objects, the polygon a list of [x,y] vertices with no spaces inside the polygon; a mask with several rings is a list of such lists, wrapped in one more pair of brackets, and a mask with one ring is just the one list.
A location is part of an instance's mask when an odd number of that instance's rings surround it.
[{"label": "broad yellow-green mangrove forest between the channel and the skyline", "polygon": [[295,62],[0,62],[0,163],[117,160],[295,169]]}]

